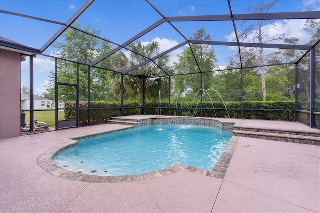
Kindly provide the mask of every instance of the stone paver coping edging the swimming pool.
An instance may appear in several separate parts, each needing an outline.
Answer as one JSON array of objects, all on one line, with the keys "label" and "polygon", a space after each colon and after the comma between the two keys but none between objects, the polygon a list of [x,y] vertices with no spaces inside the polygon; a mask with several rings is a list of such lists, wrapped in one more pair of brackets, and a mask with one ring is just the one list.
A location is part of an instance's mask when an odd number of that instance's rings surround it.
[{"label": "stone paver coping edging the swimming pool", "polygon": [[[154,118],[149,118],[149,119],[154,119]],[[215,121],[218,121],[218,120],[215,120]],[[218,122],[221,122],[221,121],[218,121]],[[222,123],[229,123],[229,124],[232,124],[232,126],[235,124],[234,122],[221,122],[221,124]],[[189,124],[189,123],[180,123],[180,124]],[[216,164],[214,165],[211,171],[184,165],[184,164],[174,164],[168,168],[164,168],[161,170],[148,172],[148,173],[142,173],[142,174],[124,175],[124,176],[99,176],[99,175],[82,174],[82,173],[69,171],[54,164],[52,161],[52,158],[58,153],[60,153],[61,151],[67,148],[76,146],[78,143],[77,139],[118,132],[118,131],[130,129],[130,128],[135,128],[135,127],[132,126],[125,129],[102,131],[102,132],[93,133],[93,134],[79,135],[77,137],[60,138],[60,140],[64,140],[65,142],[53,148],[50,148],[49,150],[41,154],[40,157],[38,158],[38,165],[42,169],[46,170],[47,172],[55,176],[58,176],[64,179],[74,180],[74,181],[81,181],[81,182],[95,182],[95,183],[133,182],[133,181],[141,181],[141,180],[147,180],[147,179],[158,178],[161,176],[166,176],[169,174],[173,174],[179,170],[186,170],[186,171],[198,173],[201,175],[223,179],[239,138],[238,136],[231,137],[230,141],[228,142],[227,146],[223,150],[221,156],[219,157],[219,159],[217,160]]]}]

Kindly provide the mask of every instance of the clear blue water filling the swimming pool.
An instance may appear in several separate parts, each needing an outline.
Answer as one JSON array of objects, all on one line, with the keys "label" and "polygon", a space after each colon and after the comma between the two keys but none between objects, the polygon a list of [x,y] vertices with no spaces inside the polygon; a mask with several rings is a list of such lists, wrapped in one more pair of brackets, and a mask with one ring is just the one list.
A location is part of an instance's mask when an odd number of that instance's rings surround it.
[{"label": "clear blue water filling the swimming pool", "polygon": [[149,125],[81,139],[52,160],[73,172],[133,175],[176,163],[211,170],[232,132],[201,125]]}]

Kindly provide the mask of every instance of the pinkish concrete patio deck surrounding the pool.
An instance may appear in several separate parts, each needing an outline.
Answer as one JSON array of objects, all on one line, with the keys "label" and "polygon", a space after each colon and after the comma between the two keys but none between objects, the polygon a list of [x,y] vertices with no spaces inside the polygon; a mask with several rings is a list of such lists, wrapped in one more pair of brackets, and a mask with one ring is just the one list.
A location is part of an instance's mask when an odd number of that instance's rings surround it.
[{"label": "pinkish concrete patio deck surrounding the pool", "polygon": [[[312,130],[296,122],[232,121]],[[2,139],[0,212],[320,212],[316,145],[239,137],[224,179],[179,170],[134,182],[81,182],[37,163],[65,142],[61,138],[127,127],[103,124]]]}]

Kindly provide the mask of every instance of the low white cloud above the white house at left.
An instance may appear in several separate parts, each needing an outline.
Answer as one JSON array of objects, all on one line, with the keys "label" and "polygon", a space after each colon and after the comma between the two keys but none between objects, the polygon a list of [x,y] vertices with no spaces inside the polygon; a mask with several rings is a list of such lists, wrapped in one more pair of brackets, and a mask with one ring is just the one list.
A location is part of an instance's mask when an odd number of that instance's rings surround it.
[{"label": "low white cloud above the white house at left", "polygon": [[[21,63],[21,71],[29,72],[30,70],[30,61],[29,57],[26,58],[26,61]],[[34,73],[49,73],[54,71],[54,61],[48,58],[33,58],[33,71]]]}]

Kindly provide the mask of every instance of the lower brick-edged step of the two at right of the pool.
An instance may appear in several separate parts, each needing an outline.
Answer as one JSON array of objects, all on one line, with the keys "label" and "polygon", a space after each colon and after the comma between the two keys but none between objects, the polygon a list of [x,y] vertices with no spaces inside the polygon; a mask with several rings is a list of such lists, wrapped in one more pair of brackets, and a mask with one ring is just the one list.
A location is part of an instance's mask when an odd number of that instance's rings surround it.
[{"label": "lower brick-edged step of the two at right of the pool", "polygon": [[233,134],[234,136],[241,136],[241,137],[320,145],[320,137],[314,137],[314,136],[271,133],[271,132],[257,132],[257,131],[242,131],[242,130],[233,130]]}]

